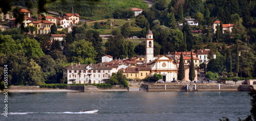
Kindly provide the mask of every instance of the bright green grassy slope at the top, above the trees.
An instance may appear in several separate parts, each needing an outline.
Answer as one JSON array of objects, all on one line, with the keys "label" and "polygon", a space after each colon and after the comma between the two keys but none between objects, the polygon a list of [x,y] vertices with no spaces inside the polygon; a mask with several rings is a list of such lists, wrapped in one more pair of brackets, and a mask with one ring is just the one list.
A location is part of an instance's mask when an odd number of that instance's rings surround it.
[{"label": "bright green grassy slope at the top, above the trees", "polygon": [[100,20],[112,18],[113,11],[117,8],[129,9],[140,8],[145,9],[148,5],[142,0],[100,0],[96,2],[66,0],[65,2],[57,1],[48,5],[48,9],[62,13],[78,13],[81,18],[90,20]]}]

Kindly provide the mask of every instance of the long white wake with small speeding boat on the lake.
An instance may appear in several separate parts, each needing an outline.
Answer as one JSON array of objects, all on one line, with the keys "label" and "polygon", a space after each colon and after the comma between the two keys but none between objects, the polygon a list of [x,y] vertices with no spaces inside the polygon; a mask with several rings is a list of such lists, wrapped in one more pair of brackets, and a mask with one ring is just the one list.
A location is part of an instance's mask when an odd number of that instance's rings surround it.
[{"label": "long white wake with small speeding boat on the lake", "polygon": [[[98,110],[84,112],[8,112],[9,115],[26,115],[26,114],[93,114]],[[1,113],[4,115],[5,113]]]}]

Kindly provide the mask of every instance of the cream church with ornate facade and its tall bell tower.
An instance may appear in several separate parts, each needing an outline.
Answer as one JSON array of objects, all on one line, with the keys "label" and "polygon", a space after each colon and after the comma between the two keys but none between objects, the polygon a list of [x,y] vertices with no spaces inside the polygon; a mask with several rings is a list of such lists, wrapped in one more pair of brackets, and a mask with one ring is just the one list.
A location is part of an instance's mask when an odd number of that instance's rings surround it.
[{"label": "cream church with ornate facade and its tall bell tower", "polygon": [[178,66],[168,56],[154,57],[154,39],[151,30],[146,33],[146,65],[151,68],[151,73],[161,74],[163,81],[171,82],[177,80]]}]

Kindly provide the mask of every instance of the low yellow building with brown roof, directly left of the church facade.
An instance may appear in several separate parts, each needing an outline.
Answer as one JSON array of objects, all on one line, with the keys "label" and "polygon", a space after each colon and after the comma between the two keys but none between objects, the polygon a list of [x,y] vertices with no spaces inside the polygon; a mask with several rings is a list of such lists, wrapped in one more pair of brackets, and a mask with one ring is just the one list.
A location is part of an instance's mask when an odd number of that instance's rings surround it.
[{"label": "low yellow building with brown roof, directly left of the church facade", "polygon": [[122,71],[127,79],[144,79],[146,76],[150,75],[150,70],[150,67],[131,66]]}]

